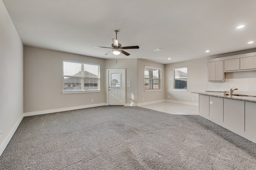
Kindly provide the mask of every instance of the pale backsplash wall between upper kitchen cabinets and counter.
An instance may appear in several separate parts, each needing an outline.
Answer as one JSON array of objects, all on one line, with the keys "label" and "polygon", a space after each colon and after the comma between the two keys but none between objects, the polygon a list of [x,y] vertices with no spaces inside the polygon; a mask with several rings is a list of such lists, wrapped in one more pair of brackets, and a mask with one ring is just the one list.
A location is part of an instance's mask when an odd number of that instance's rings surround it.
[{"label": "pale backsplash wall between upper kitchen cabinets and counter", "polygon": [[256,71],[226,72],[225,77],[225,82],[208,82],[208,90],[228,91],[236,87],[239,92],[256,92]]}]

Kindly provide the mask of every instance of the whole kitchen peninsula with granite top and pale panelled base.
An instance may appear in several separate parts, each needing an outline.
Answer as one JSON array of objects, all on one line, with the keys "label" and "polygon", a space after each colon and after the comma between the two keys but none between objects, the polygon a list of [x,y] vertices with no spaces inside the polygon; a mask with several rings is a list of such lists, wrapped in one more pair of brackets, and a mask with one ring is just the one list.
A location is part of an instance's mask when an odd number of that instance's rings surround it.
[{"label": "whole kitchen peninsula with granite top and pale panelled base", "polygon": [[256,95],[255,92],[192,92],[199,95],[199,115],[254,143],[256,143]]}]

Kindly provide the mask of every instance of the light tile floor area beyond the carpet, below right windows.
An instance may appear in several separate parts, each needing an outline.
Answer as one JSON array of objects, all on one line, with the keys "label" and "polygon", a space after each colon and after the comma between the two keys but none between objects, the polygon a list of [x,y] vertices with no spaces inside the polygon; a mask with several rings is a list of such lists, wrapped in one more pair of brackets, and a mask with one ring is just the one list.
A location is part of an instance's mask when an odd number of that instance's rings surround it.
[{"label": "light tile floor area beyond the carpet, below right windows", "polygon": [[148,104],[140,106],[152,110],[162,111],[174,115],[198,115],[198,106],[177,104],[171,102],[159,102],[156,104]]}]

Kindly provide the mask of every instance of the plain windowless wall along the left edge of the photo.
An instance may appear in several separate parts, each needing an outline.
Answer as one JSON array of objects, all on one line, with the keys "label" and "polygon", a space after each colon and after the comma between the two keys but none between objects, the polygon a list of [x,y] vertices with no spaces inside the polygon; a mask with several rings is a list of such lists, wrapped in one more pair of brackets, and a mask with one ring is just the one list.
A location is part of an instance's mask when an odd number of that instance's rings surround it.
[{"label": "plain windowless wall along the left edge of the photo", "polygon": [[16,123],[22,119],[23,114],[23,45],[2,0],[0,0],[0,57],[1,154],[4,140]]}]

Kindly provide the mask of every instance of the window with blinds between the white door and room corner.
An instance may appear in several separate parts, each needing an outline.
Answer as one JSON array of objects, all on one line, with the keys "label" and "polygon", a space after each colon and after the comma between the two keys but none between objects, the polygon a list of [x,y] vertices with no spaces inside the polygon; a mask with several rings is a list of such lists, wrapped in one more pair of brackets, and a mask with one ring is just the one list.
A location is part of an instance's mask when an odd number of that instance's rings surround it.
[{"label": "window with blinds between the white door and room corner", "polygon": [[144,90],[161,90],[161,68],[144,67]]}]

